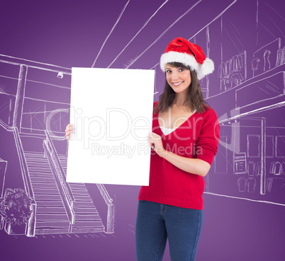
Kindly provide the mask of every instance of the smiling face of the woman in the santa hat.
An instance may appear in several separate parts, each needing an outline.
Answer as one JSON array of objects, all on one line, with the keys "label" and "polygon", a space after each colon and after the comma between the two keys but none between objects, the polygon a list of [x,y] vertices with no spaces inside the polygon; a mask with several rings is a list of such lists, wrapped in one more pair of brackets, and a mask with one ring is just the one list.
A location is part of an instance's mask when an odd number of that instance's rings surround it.
[{"label": "smiling face of the woman in the santa hat", "polygon": [[171,64],[165,66],[166,79],[169,86],[175,93],[181,93],[190,86],[191,75],[190,70],[174,67]]}]

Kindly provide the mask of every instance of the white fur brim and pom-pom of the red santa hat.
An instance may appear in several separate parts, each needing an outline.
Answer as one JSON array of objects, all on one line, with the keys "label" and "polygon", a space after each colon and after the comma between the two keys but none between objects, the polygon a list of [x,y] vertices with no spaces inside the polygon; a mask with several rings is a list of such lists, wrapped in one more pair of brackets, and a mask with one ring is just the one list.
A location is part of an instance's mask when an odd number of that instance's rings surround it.
[{"label": "white fur brim and pom-pom of the red santa hat", "polygon": [[160,58],[162,71],[165,71],[165,65],[169,62],[181,62],[181,64],[189,66],[192,71],[196,71],[199,80],[207,74],[211,74],[214,70],[214,64],[211,59],[206,58],[203,64],[199,64],[193,55],[186,54],[186,52],[167,52],[162,54]]}]

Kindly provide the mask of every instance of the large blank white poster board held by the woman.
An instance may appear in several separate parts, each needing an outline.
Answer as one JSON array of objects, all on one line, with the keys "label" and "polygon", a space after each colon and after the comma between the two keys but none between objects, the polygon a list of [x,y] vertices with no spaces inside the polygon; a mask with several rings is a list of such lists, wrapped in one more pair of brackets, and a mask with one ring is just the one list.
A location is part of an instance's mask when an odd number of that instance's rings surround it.
[{"label": "large blank white poster board held by the woman", "polygon": [[148,185],[155,71],[72,68],[67,182]]}]

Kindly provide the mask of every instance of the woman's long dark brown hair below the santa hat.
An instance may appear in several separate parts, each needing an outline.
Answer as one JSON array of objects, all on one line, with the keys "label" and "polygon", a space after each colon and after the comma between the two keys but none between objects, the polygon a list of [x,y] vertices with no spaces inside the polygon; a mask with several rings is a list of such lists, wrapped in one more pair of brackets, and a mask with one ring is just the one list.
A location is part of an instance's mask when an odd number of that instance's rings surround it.
[{"label": "woman's long dark brown hair below the santa hat", "polygon": [[[197,78],[196,71],[192,71],[189,66],[181,64],[180,62],[169,62],[169,64],[171,66],[177,68],[184,68],[190,71],[191,83],[190,86],[188,87],[188,92],[186,93],[186,99],[183,105],[191,111],[196,110],[196,112],[198,113],[208,110],[210,106],[208,105],[208,103],[206,103],[206,101],[203,98],[201,86]],[[164,91],[162,95],[160,95],[160,101],[155,106],[155,113],[166,112],[174,102],[175,94],[176,93],[169,86],[167,80],[165,79]]]}]

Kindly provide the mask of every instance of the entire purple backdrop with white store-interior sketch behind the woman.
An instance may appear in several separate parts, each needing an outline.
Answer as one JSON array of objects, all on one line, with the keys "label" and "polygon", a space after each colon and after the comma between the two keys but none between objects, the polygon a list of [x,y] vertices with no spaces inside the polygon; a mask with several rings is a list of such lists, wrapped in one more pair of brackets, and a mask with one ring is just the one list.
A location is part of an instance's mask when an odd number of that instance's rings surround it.
[{"label": "entire purple backdrop with white store-interior sketch behind the woman", "polygon": [[201,80],[221,139],[205,178],[196,260],[284,259],[285,4],[7,1],[0,8],[1,260],[135,260],[140,188],[65,182],[71,68],[155,69],[158,100],[160,55],[177,36],[216,65]]}]

